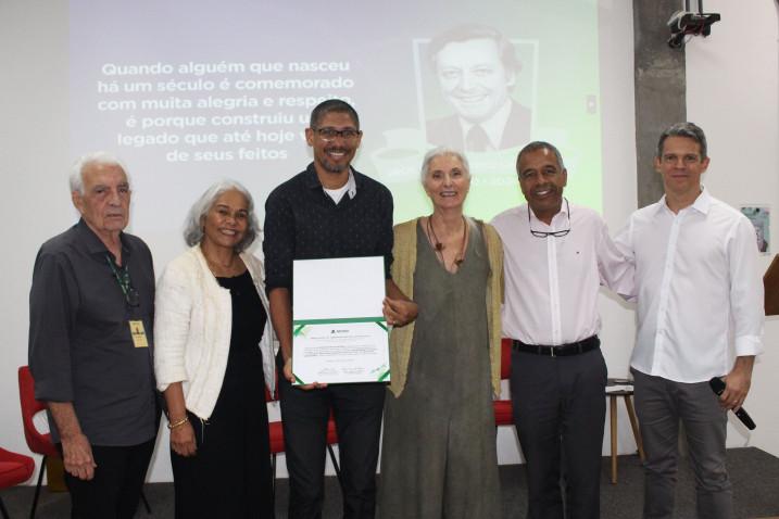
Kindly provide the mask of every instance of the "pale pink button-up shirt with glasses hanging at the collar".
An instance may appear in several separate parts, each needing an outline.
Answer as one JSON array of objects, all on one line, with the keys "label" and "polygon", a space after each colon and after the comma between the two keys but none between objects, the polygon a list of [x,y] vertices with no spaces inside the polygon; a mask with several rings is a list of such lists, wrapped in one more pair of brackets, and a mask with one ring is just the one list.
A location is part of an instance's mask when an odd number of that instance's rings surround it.
[{"label": "pale pink button-up shirt with glasses hanging at the collar", "polygon": [[[598,291],[601,284],[621,294],[632,292],[632,266],[618,252],[606,224],[594,211],[569,205],[539,220],[523,204],[492,220],[503,240],[505,303],[503,336],[526,344],[562,345],[601,329]],[[532,230],[570,228],[563,237],[539,238]]]}]

